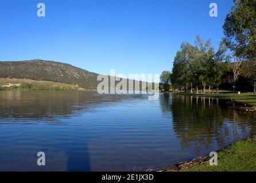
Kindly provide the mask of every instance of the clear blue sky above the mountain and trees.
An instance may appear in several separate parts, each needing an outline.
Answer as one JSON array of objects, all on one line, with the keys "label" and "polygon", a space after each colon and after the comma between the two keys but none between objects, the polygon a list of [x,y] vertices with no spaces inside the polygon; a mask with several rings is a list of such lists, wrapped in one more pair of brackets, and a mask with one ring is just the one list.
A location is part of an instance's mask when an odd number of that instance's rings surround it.
[{"label": "clear blue sky above the mountain and trees", "polygon": [[[44,2],[46,17],[37,17]],[[211,2],[219,16],[209,16]],[[171,70],[181,42],[218,46],[232,0],[9,0],[0,2],[0,61],[46,59],[96,73]]]}]

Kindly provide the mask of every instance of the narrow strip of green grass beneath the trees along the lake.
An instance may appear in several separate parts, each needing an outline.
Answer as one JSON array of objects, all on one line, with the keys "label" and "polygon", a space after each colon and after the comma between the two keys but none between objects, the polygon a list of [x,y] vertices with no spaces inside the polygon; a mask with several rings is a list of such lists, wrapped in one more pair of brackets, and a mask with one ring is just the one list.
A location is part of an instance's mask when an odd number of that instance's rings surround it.
[{"label": "narrow strip of green grass beneath the trees along the lake", "polygon": [[253,93],[230,93],[226,91],[220,91],[219,94],[196,94],[196,93],[185,93],[185,92],[180,92],[177,94],[183,94],[185,96],[204,96],[204,97],[218,97],[218,98],[223,98],[223,99],[230,99],[235,100],[236,102],[241,102],[245,104],[251,105],[252,108],[256,109],[256,96],[253,96]]}]

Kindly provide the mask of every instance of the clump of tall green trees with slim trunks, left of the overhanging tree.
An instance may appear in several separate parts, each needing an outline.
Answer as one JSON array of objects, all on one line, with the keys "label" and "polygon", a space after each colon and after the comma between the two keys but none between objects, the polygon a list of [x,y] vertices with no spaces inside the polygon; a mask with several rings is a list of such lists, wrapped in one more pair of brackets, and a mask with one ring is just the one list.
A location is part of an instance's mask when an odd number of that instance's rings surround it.
[{"label": "clump of tall green trees with slim trunks, left of the overhanging tree", "polygon": [[223,82],[224,61],[227,59],[227,46],[222,41],[218,51],[211,45],[211,39],[204,41],[200,36],[196,37],[195,46],[189,43],[182,43],[181,50],[177,51],[173,62],[172,85],[179,90],[190,87],[196,93],[205,93],[205,86],[209,85],[209,91],[216,87],[217,93],[219,85]]}]

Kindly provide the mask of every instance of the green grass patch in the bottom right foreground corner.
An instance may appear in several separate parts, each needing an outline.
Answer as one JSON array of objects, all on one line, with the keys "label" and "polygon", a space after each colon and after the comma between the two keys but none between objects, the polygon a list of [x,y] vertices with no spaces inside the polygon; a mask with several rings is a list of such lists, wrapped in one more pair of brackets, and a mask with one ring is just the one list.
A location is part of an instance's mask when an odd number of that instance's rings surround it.
[{"label": "green grass patch in the bottom right foreground corner", "polygon": [[218,153],[218,165],[198,165],[190,172],[255,172],[256,137],[238,141]]}]

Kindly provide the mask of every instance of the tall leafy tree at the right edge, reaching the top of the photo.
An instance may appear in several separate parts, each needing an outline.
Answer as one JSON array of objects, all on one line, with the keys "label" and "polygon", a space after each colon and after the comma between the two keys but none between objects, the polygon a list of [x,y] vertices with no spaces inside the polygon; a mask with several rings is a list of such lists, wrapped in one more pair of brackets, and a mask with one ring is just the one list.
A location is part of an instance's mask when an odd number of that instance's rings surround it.
[{"label": "tall leafy tree at the right edge, reaching the top of the photo", "polygon": [[[251,77],[256,87],[254,64],[256,63],[256,0],[234,0],[223,25],[225,42],[233,51],[235,61],[249,62],[252,65]],[[238,63],[239,63],[238,62]],[[236,66],[243,65],[242,63]],[[235,63],[234,63],[235,68]],[[240,70],[241,68],[235,68]],[[254,92],[254,95],[256,93]]]}]

